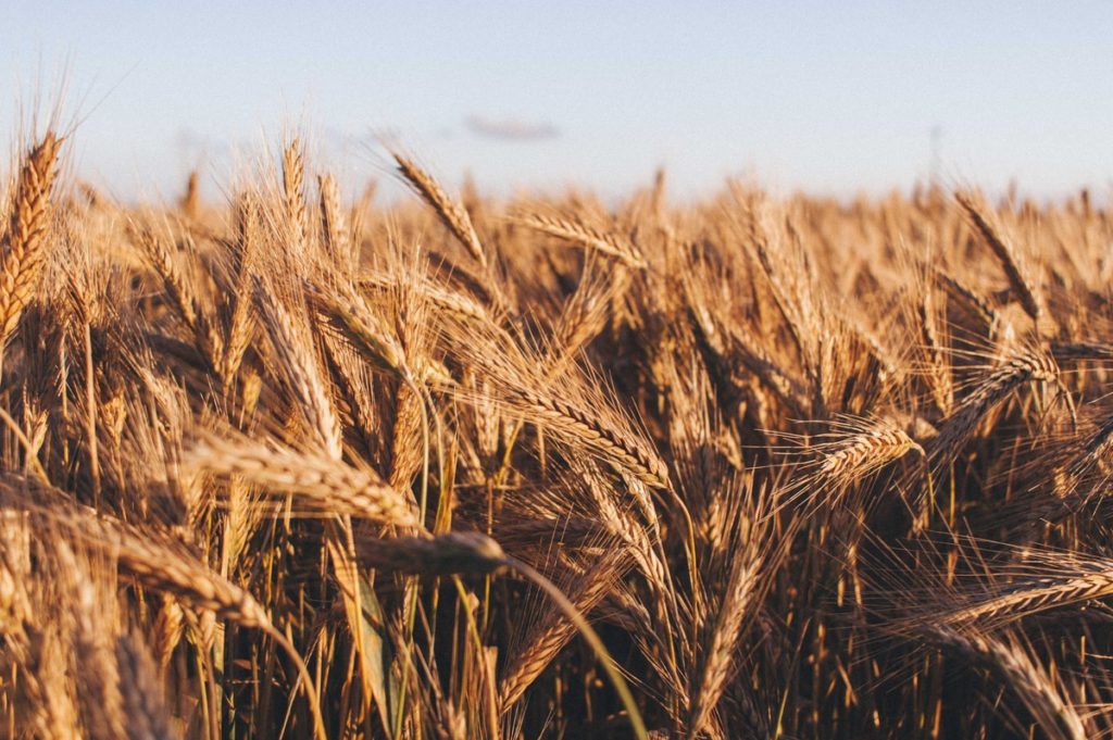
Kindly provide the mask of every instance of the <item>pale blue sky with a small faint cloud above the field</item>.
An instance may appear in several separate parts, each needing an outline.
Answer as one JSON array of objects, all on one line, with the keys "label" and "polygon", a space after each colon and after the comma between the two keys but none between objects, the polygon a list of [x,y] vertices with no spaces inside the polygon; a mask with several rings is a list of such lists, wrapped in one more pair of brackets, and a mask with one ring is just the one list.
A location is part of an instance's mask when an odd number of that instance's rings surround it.
[{"label": "pale blue sky with a small faint cloud above the field", "polygon": [[126,198],[194,167],[218,191],[290,131],[349,188],[384,177],[384,139],[499,193],[618,195],[662,166],[689,197],[1113,185],[1110,2],[0,6],[0,131],[14,147],[65,80],[73,170]]}]

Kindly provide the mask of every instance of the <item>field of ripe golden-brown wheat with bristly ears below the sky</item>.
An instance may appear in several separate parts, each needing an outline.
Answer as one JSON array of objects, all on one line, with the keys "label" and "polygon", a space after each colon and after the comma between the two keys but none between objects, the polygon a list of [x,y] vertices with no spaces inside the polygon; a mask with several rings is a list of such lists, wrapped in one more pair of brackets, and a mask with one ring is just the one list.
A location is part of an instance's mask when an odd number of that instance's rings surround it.
[{"label": "field of ripe golden-brown wheat with bristly ears below the sky", "polygon": [[[79,134],[76,135],[79,137]],[[0,737],[1113,730],[1113,215],[303,140],[2,198]]]}]

